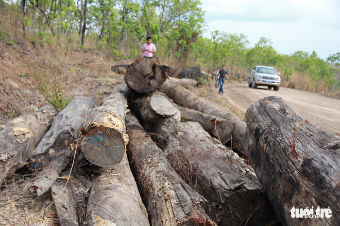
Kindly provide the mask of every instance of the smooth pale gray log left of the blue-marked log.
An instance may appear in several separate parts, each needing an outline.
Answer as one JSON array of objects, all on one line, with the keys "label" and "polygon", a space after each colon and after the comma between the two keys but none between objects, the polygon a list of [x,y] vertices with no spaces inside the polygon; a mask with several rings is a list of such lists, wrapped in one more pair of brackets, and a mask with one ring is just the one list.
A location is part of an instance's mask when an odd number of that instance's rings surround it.
[{"label": "smooth pale gray log left of the blue-marked log", "polygon": [[34,149],[34,154],[41,154],[48,151],[52,146],[65,147],[65,140],[61,137],[77,139],[80,128],[85,124],[89,117],[89,111],[94,107],[92,97],[75,96],[68,105],[61,110],[54,118],[50,130],[41,139],[38,146]]}]

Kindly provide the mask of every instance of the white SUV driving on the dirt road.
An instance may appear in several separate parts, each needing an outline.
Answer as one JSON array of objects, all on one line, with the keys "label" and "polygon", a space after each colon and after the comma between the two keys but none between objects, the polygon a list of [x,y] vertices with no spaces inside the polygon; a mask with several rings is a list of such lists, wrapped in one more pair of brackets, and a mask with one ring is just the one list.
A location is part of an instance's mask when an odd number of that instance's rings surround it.
[{"label": "white SUV driving on the dirt road", "polygon": [[268,89],[274,88],[275,91],[280,89],[280,73],[275,68],[267,66],[255,66],[249,75],[248,85],[254,89],[257,86],[268,86]]}]

